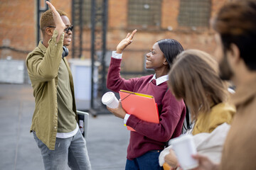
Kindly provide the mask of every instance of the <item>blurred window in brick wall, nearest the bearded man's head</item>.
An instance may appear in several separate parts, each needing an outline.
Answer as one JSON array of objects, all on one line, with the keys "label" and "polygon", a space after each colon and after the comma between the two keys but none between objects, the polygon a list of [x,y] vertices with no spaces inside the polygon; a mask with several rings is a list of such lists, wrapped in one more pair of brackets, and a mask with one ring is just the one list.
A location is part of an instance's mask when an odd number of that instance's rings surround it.
[{"label": "blurred window in brick wall, nearest the bearded man's head", "polygon": [[210,0],[181,0],[178,26],[186,26],[193,29],[208,27],[210,7]]}]

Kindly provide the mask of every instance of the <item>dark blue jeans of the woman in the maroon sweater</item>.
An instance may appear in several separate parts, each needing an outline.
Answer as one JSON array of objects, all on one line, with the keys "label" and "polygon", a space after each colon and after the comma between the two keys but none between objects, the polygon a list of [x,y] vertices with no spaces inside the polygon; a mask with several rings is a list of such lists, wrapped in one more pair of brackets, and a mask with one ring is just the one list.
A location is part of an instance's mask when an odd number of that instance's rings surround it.
[{"label": "dark blue jeans of the woman in the maroon sweater", "polygon": [[125,170],[163,170],[159,166],[159,154],[159,150],[152,150],[135,159],[127,159]]}]

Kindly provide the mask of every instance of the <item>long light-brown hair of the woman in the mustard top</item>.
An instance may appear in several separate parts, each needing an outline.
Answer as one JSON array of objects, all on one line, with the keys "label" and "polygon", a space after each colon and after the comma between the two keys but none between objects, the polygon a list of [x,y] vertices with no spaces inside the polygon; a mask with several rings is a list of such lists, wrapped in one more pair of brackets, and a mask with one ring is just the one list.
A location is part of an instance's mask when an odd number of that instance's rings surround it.
[{"label": "long light-brown hair of the woman in the mustard top", "polygon": [[199,111],[209,113],[211,104],[228,100],[228,86],[218,75],[218,63],[201,50],[186,50],[177,56],[168,84],[176,98],[184,99],[192,119]]}]

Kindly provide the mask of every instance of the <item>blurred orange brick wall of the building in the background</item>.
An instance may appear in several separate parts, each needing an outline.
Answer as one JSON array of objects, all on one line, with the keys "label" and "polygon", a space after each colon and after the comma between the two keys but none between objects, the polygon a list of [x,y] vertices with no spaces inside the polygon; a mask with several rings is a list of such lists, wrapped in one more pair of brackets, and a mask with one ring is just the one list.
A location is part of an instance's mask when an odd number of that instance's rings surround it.
[{"label": "blurred orange brick wall of the building in the background", "polygon": [[[226,0],[212,0],[211,16]],[[51,1],[56,8],[68,13],[71,18],[71,0]],[[213,54],[215,49],[214,32],[204,30],[181,30],[177,16],[179,0],[162,0],[161,29],[146,30],[138,28],[132,45],[124,52],[122,71],[142,72],[144,55],[151,49],[156,40],[174,38],[181,42],[185,49],[196,48]],[[115,50],[120,40],[126,37],[133,28],[127,26],[128,0],[109,0],[107,50]],[[33,50],[36,42],[36,1],[1,0],[0,4],[0,59],[11,56],[13,59],[25,60],[27,52]],[[90,58],[90,30],[84,30],[82,57]],[[11,47],[12,50],[3,47]],[[71,52],[71,47],[70,47]],[[70,56],[69,56],[70,57]]]}]

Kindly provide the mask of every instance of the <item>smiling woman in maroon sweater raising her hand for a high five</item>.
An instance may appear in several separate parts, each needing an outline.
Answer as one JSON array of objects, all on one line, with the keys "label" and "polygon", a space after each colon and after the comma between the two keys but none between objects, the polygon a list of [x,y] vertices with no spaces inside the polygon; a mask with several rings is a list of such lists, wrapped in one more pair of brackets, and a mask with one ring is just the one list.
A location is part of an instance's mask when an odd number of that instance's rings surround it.
[{"label": "smiling woman in maroon sweater raising her hand for a high five", "polygon": [[174,58],[183,51],[181,44],[173,39],[159,40],[146,54],[146,68],[154,69],[155,74],[145,77],[123,79],[120,77],[120,64],[123,50],[132,42],[137,30],[128,34],[112,53],[107,74],[107,88],[118,92],[120,89],[154,96],[159,109],[159,123],[149,123],[134,115],[125,113],[122,104],[112,109],[114,115],[124,119],[124,123],[134,128],[130,132],[125,169],[162,169],[159,166],[159,153],[165,142],[181,135],[186,107],[183,101],[177,101],[168,90],[168,72]]}]

